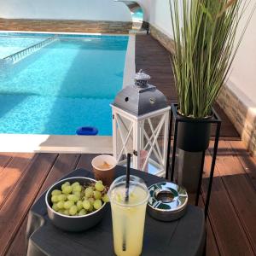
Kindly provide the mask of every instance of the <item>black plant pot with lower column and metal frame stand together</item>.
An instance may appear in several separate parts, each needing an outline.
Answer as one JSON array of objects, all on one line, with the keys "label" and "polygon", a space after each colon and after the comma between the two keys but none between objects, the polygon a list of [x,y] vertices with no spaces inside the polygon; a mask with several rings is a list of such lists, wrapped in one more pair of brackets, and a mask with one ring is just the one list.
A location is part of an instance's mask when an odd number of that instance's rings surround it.
[{"label": "black plant pot with lower column and metal frame stand together", "polygon": [[[182,184],[187,191],[196,191],[196,205],[198,205],[199,195],[201,192],[201,178],[204,169],[205,150],[209,146],[212,124],[216,125],[215,135],[213,137],[214,147],[205,207],[205,212],[207,214],[218,150],[221,119],[218,117],[218,113],[216,113],[214,108],[212,108],[212,116],[206,119],[191,119],[184,117],[178,113],[177,109],[178,104],[172,103],[167,155],[171,153],[173,121],[175,124],[175,130],[174,141],[172,144],[172,164],[170,165],[169,158],[167,158],[166,178],[169,178],[171,166],[171,181],[174,180],[174,177],[177,177],[178,183]],[[175,169],[177,169],[176,175]]]}]

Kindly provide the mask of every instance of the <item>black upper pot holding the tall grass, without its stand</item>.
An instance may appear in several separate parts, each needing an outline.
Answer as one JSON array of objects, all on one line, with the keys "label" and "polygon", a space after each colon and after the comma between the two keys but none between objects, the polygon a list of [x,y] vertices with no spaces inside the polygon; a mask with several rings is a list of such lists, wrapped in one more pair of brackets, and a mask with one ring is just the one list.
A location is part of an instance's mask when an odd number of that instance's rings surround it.
[{"label": "black upper pot holding the tall grass, without its stand", "polygon": [[189,152],[202,152],[209,146],[212,117],[206,119],[191,119],[177,113],[182,121],[177,126],[177,148]]}]

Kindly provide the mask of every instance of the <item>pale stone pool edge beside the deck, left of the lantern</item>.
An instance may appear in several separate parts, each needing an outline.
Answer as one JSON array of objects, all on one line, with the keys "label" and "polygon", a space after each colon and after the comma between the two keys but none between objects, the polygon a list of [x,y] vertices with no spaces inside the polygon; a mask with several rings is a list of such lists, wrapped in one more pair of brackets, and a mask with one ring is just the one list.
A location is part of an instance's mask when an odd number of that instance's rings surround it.
[{"label": "pale stone pool edge beside the deck, left of the lantern", "polygon": [[0,134],[0,152],[112,154],[111,136]]}]

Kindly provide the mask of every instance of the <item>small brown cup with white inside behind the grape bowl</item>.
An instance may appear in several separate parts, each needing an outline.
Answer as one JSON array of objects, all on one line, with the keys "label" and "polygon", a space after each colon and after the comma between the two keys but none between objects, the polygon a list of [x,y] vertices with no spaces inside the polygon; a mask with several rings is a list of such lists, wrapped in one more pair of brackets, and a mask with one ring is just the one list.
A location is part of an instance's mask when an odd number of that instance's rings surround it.
[{"label": "small brown cup with white inside behind the grape bowl", "polygon": [[96,156],[92,161],[94,176],[97,180],[102,180],[104,185],[110,186],[113,182],[114,168],[117,161],[112,155],[101,154]]}]

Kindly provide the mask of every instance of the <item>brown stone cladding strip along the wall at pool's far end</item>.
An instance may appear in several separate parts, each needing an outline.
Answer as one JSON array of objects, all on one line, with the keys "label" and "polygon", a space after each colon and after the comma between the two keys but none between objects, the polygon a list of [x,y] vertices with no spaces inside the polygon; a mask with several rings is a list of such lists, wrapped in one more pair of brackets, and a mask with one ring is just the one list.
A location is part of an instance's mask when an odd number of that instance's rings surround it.
[{"label": "brown stone cladding strip along the wall at pool's far end", "polygon": [[125,21],[0,19],[0,30],[3,31],[125,34],[131,28],[132,22]]}]

